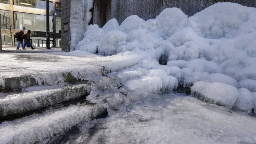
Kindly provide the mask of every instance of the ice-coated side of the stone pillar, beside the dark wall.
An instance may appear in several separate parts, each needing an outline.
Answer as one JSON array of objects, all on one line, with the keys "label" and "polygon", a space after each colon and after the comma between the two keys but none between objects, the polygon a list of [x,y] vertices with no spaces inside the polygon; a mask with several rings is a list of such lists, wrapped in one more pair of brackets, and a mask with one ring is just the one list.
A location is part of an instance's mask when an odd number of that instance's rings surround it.
[{"label": "ice-coated side of the stone pillar, beside the dark wall", "polygon": [[83,39],[91,20],[90,9],[93,7],[93,0],[72,0],[70,6],[70,51],[74,51],[78,41]]}]

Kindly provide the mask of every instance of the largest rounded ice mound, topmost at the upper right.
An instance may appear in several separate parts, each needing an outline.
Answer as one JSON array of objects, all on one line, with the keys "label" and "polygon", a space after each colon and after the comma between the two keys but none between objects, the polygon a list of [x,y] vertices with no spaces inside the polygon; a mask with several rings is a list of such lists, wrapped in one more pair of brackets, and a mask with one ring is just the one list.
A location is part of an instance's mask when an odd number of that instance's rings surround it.
[{"label": "largest rounded ice mound, topmost at the upper right", "polygon": [[[193,23],[191,27],[202,37],[231,39],[241,35],[240,29],[243,29],[243,24],[248,22],[251,14],[256,14],[253,7],[230,2],[215,3],[191,16],[189,21],[193,22],[189,23]],[[248,29],[251,27],[254,26],[250,25]],[[251,30],[250,32],[255,32],[255,29]]]}]

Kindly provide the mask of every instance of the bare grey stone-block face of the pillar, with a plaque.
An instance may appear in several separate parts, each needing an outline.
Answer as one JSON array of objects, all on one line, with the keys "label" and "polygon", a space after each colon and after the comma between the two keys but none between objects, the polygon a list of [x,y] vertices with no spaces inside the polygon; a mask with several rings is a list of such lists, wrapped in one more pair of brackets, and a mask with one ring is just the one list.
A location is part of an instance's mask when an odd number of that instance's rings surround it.
[{"label": "bare grey stone-block face of the pillar, with a plaque", "polygon": [[70,5],[71,0],[61,1],[61,50],[70,51]]}]

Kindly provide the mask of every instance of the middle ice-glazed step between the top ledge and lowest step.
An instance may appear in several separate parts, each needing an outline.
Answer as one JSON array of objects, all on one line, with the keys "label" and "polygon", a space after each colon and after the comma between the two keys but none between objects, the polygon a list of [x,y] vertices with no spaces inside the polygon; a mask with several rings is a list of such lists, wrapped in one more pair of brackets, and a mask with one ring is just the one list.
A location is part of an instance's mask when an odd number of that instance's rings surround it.
[{"label": "middle ice-glazed step between the top ledge and lowest step", "polygon": [[32,86],[22,91],[0,93],[0,121],[64,101],[89,95],[91,90],[119,87],[116,79],[105,76],[92,81],[75,81],[53,86]]}]

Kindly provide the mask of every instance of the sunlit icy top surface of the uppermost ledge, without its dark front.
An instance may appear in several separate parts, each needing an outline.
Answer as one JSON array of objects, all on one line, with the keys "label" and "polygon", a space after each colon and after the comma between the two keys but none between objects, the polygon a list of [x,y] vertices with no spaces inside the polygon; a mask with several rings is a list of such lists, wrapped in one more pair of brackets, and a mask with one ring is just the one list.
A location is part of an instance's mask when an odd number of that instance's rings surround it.
[{"label": "sunlit icy top surface of the uppermost ledge, without its dark front", "polygon": [[83,78],[86,73],[101,74],[102,66],[115,71],[123,69],[123,63],[126,63],[127,67],[140,59],[136,55],[113,57],[103,57],[79,50],[72,53],[0,53],[0,78],[21,75],[37,77],[40,74],[52,75],[67,71],[76,72],[78,77]]}]

